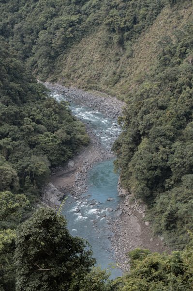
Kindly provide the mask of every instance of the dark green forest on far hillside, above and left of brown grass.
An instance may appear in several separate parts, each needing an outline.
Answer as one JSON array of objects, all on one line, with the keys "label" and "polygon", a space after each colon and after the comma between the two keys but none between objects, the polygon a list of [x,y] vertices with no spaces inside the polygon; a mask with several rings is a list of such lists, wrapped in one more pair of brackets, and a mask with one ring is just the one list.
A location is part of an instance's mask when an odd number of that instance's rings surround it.
[{"label": "dark green forest on far hillside, above and left of brown grass", "polygon": [[0,7],[0,35],[40,79],[54,79],[62,69],[61,55],[99,25],[108,32],[110,45],[124,48],[153,23],[164,4],[164,0],[8,0]]}]

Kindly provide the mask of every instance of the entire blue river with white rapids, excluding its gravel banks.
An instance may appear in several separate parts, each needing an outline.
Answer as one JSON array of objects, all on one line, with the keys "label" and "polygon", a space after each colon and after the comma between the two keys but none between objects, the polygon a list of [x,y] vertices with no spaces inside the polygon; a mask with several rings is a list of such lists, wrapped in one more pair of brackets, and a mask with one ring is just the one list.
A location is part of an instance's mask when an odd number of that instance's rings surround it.
[{"label": "entire blue river with white rapids, excluding its gravel banks", "polygon": [[[58,100],[69,101],[72,113],[100,138],[106,152],[110,151],[121,131],[115,118],[106,117],[95,108],[74,103],[64,94],[53,92],[52,95]],[[110,224],[119,215],[117,206],[120,202],[117,190],[119,175],[113,171],[113,161],[114,158],[111,158],[92,165],[87,174],[88,191],[82,193],[81,198],[69,194],[63,208],[70,233],[88,240],[97,265],[109,269],[112,279],[122,275],[111,247],[113,233]]]}]

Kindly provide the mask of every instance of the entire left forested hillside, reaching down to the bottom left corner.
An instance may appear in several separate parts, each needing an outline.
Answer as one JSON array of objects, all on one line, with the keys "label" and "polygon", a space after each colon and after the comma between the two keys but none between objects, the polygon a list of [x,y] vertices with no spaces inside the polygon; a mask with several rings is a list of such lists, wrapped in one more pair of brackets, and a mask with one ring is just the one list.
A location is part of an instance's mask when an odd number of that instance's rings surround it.
[{"label": "entire left forested hillside, reaching down to the bottom left corner", "polygon": [[40,200],[50,167],[89,142],[85,127],[37,84],[0,39],[0,290],[14,290],[15,227]]}]

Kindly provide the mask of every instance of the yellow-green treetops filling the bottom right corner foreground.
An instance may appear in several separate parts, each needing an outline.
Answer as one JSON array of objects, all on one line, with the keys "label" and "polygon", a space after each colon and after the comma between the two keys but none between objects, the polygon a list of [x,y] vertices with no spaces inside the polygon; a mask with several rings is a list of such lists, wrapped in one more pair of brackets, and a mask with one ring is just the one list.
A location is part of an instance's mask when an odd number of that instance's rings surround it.
[{"label": "yellow-green treetops filling the bottom right corner foreground", "polygon": [[136,249],[129,253],[131,271],[116,279],[112,290],[116,291],[186,291],[192,290],[193,269],[190,263],[193,253],[191,241],[184,251],[171,255],[151,253]]}]

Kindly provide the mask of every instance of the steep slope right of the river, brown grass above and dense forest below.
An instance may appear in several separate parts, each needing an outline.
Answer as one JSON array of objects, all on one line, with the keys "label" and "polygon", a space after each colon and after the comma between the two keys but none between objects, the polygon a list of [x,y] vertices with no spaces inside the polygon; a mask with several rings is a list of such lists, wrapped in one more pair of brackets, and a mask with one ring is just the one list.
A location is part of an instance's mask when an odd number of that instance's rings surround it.
[{"label": "steep slope right of the river, brown grass above and dense forest below", "polygon": [[100,27],[61,56],[58,75],[128,103],[116,167],[122,185],[148,205],[155,232],[175,248],[184,247],[193,224],[192,8],[189,1],[165,6],[128,52],[109,44]]}]

